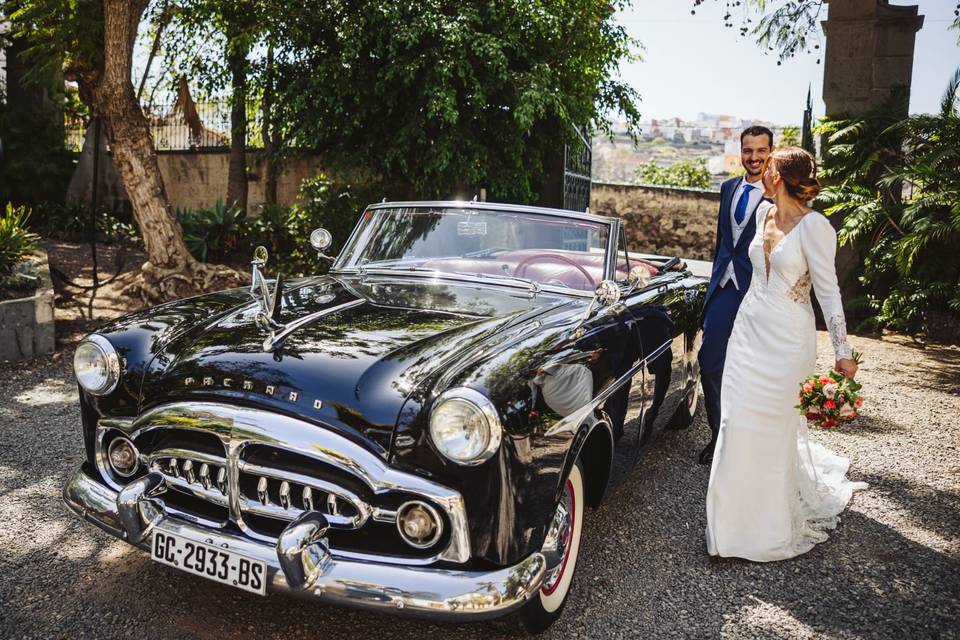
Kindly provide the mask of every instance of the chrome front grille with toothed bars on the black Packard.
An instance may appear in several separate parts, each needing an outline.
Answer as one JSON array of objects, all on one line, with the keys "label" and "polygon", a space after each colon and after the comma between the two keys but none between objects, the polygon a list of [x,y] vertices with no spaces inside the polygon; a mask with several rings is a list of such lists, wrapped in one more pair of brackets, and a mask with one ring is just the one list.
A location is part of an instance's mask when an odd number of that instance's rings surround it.
[{"label": "chrome front grille with toothed bars on the black Packard", "polygon": [[[112,475],[105,455],[116,434],[133,440],[142,472],[163,475],[168,490],[154,499],[170,515],[275,541],[302,513],[319,511],[334,555],[403,564],[470,557],[459,493],[395,470],[331,429],[205,402],[164,405],[136,420],[101,419],[97,466],[119,490],[129,479]],[[409,500],[435,505],[444,520],[444,535],[428,549],[404,544],[397,531],[396,510]]]}]

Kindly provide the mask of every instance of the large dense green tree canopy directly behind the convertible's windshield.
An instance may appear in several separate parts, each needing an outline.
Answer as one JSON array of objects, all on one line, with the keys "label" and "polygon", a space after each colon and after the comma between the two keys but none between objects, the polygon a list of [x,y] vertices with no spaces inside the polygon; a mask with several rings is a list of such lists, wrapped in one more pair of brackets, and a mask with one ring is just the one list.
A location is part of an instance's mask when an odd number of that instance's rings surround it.
[{"label": "large dense green tree canopy directly behind the convertible's windshield", "polygon": [[281,4],[282,138],[391,197],[531,200],[574,125],[639,119],[614,77],[634,44],[623,0]]}]

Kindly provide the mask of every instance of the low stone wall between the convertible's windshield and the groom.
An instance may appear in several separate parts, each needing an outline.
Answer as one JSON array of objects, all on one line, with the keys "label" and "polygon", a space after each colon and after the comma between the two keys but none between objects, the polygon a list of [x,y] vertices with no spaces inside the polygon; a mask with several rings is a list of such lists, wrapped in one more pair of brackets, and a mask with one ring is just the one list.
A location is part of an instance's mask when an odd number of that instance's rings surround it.
[{"label": "low stone wall between the convertible's windshield and the groom", "polygon": [[590,211],[626,221],[631,251],[711,260],[718,191],[594,182]]}]

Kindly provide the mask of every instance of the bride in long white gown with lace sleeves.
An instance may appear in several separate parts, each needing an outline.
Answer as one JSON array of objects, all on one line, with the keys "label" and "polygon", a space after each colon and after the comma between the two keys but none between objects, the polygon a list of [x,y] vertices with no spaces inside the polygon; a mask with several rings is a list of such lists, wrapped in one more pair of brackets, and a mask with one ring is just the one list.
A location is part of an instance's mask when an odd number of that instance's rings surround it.
[{"label": "bride in long white gown with lace sleeves", "polygon": [[770,154],[762,171],[773,202],[757,207],[753,279],[727,347],[720,435],[707,489],[707,551],[757,562],[783,560],[827,539],[863,483],[850,461],[807,439],[794,408],[814,373],[817,338],[810,285],[830,332],[835,369],[857,372],[847,342],[834,256],[837,235],[806,202],[820,185],[803,149]]}]

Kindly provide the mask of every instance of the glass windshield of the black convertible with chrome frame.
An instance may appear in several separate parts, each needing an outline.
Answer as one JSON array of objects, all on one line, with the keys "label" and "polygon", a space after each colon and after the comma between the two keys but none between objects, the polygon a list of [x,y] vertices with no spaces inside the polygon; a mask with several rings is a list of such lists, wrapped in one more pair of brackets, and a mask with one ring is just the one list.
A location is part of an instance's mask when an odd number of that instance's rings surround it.
[{"label": "glass windshield of the black convertible with chrome frame", "polygon": [[549,214],[368,209],[334,268],[521,278],[592,292],[606,272],[608,234],[602,222]]}]

